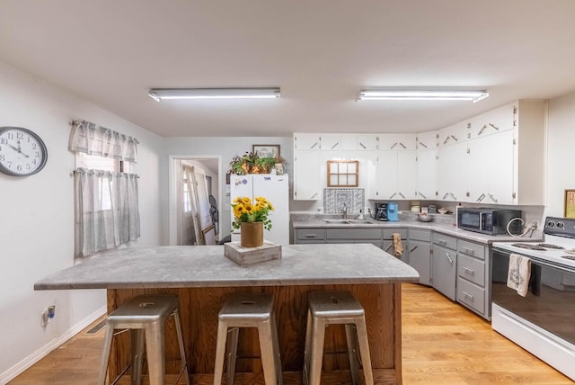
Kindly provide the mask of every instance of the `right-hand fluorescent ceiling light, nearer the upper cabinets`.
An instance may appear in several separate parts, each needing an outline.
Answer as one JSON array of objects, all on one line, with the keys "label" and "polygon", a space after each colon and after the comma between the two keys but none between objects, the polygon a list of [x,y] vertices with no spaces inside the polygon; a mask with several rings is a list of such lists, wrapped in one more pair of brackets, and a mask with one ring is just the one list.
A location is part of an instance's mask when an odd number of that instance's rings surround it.
[{"label": "right-hand fluorescent ceiling light, nearer the upper cabinets", "polygon": [[361,90],[359,100],[469,100],[479,102],[487,91],[460,90]]}]

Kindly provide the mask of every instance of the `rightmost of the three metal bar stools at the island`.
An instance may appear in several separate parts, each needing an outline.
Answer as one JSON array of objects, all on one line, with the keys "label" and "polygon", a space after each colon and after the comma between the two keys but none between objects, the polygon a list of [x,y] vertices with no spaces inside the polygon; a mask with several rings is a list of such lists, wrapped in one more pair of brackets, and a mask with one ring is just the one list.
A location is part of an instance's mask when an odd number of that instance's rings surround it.
[{"label": "rightmost of the three metal bar stools at the island", "polygon": [[[366,315],[359,301],[349,291],[313,291],[308,294],[305,328],[304,384],[319,385],[322,375],[325,327],[345,325],[349,369],[355,384],[359,381],[358,363],[363,363],[366,384],[373,385],[371,356],[367,342]],[[360,357],[357,347],[359,345]],[[359,361],[361,360],[361,362]]]}]

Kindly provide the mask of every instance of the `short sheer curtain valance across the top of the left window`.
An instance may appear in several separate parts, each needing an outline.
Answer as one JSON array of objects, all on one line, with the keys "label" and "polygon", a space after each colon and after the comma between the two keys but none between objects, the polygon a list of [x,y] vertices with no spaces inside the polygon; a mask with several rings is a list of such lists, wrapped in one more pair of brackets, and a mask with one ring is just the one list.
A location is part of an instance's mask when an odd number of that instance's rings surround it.
[{"label": "short sheer curtain valance across the top of the left window", "polygon": [[136,162],[138,143],[136,138],[97,126],[90,121],[72,122],[70,151]]}]

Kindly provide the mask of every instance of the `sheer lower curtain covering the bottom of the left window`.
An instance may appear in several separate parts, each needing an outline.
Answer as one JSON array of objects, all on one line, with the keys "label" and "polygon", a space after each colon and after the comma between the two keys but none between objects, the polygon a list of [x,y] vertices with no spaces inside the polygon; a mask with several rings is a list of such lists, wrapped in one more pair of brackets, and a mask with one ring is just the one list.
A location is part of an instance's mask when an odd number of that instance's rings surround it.
[{"label": "sheer lower curtain covering the bottom of the left window", "polygon": [[93,255],[140,236],[137,175],[75,170],[77,256]]}]

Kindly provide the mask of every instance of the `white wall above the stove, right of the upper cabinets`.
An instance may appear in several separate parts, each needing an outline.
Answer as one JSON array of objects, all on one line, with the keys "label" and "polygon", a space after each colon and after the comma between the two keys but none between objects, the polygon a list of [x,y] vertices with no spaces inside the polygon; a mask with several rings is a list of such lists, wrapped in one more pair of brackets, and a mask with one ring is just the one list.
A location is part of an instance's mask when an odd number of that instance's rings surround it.
[{"label": "white wall above the stove, right of the upper cabinets", "polygon": [[566,189],[575,189],[575,92],[549,102],[547,206],[545,216],[563,216]]}]

